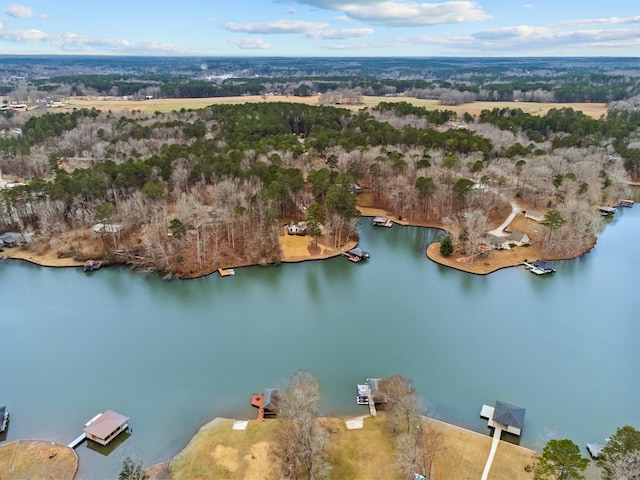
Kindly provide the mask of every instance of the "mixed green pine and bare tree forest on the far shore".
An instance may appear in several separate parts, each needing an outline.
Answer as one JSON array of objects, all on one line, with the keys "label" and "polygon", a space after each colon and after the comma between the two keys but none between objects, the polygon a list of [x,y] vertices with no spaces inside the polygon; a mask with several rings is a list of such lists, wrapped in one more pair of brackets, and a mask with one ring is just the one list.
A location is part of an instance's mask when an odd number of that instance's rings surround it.
[{"label": "mixed green pine and bare tree forest on the far shore", "polygon": [[[439,224],[473,254],[510,199],[557,212],[550,255],[575,255],[600,228],[596,205],[638,177],[640,112],[589,118],[571,108],[477,117],[408,102],[352,112],[295,103],[217,105],[167,114],[3,112],[0,232],[35,232],[46,249],[96,223],[104,256],[193,275],[275,263],[289,220],[341,245],[354,238],[357,197]],[[19,128],[19,131],[16,130]],[[74,255],[73,251],[59,252]]]}]

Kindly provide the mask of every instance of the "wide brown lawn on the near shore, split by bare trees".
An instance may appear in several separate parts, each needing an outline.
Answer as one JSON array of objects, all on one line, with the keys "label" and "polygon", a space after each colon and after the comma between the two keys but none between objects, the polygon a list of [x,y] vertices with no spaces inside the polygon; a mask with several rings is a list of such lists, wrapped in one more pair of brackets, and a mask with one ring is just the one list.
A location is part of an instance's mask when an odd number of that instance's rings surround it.
[{"label": "wide brown lawn on the near shore, split by bare trees", "polygon": [[[173,479],[277,479],[273,461],[278,420],[250,421],[246,431],[231,429],[232,420],[216,419],[205,425],[169,465]],[[362,430],[347,430],[343,419],[322,418],[330,432],[327,452],[332,464],[329,478],[365,480],[400,479],[393,441],[385,428],[384,412],[365,419]],[[480,478],[489,455],[488,435],[423,418],[423,431],[440,438],[432,465],[433,480]],[[525,471],[535,453],[501,442],[490,471],[494,480],[531,480]],[[153,477],[152,477],[153,478]]]}]

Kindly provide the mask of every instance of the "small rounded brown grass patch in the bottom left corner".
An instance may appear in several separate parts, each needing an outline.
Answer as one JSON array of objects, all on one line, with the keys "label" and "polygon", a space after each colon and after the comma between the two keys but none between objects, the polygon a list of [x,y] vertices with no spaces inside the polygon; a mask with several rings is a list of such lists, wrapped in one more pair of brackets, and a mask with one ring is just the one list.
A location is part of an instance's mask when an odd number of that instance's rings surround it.
[{"label": "small rounded brown grass patch in the bottom left corner", "polygon": [[15,440],[0,446],[2,480],[71,480],[77,469],[76,452],[60,443]]}]

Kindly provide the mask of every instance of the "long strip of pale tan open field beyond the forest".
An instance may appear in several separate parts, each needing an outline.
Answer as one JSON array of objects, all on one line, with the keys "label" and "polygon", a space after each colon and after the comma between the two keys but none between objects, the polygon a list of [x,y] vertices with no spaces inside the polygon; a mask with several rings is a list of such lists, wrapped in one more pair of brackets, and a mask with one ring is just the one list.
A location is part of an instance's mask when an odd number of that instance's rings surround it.
[{"label": "long strip of pale tan open field beyond the forest", "polygon": [[[123,100],[119,97],[71,97],[66,108],[97,108],[102,111],[131,111],[142,112],[170,112],[173,110],[199,109],[214,104],[244,104],[261,102],[293,102],[307,105],[318,105],[318,97],[294,97],[284,95],[251,95],[243,97],[213,97],[213,98],[160,98],[152,100]],[[604,103],[532,103],[532,102],[473,102],[464,105],[446,106],[438,100],[421,100],[410,97],[362,97],[360,105],[339,105],[350,110],[360,110],[375,106],[380,102],[409,102],[413,105],[431,110],[453,110],[458,115],[468,112],[478,115],[482,110],[493,108],[520,108],[532,115],[544,115],[552,108],[571,107],[585,115],[600,118],[606,115],[607,106]],[[64,107],[63,107],[64,108]]]}]

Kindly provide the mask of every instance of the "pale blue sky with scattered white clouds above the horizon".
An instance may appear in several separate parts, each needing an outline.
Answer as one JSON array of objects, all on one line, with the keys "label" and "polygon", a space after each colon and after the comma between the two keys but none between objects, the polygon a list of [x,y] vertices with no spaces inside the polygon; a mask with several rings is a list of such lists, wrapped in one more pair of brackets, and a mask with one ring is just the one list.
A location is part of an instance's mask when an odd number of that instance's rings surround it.
[{"label": "pale blue sky with scattered white clouds above the horizon", "polygon": [[0,54],[640,56],[640,2],[2,2]]}]

